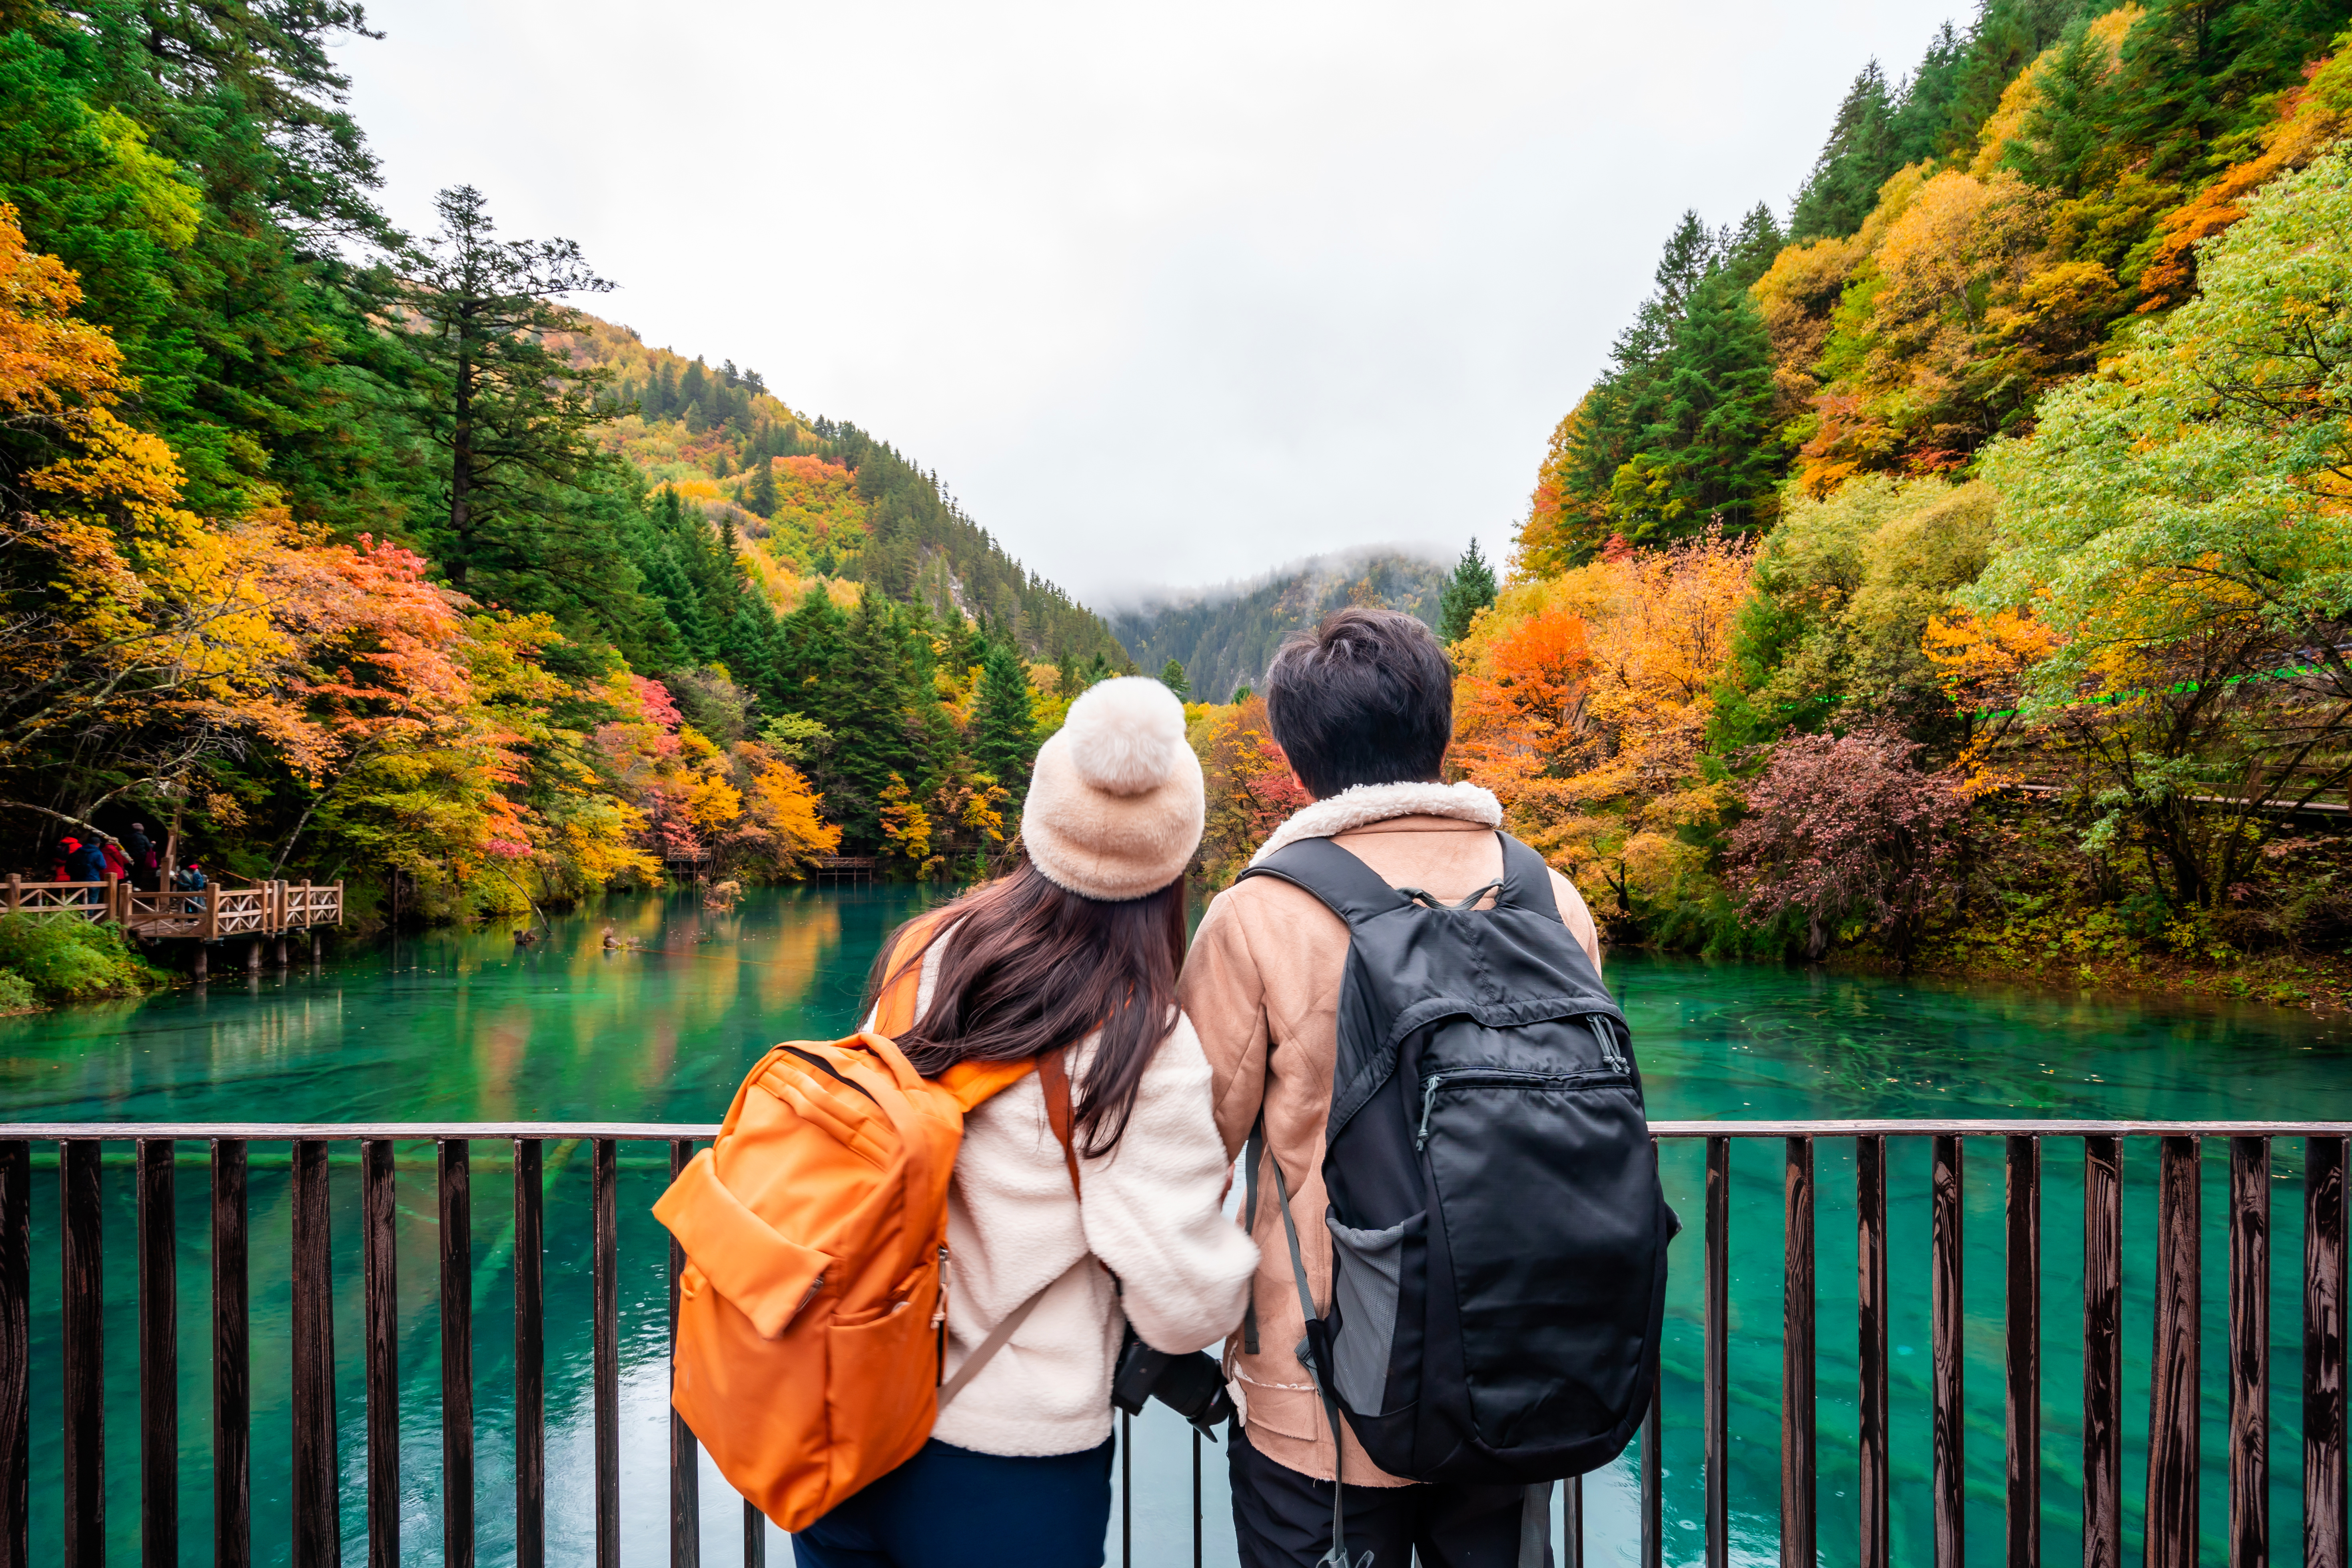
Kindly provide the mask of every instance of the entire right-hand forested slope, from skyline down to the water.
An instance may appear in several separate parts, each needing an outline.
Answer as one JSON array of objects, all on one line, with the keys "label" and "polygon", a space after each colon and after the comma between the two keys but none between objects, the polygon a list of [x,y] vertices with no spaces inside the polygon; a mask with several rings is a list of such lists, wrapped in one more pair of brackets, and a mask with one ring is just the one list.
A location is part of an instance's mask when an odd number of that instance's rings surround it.
[{"label": "entire right-hand forested slope, from skyline down to the water", "polygon": [[2347,21],[1985,0],[1684,216],[1454,646],[1621,938],[2352,997]]}]

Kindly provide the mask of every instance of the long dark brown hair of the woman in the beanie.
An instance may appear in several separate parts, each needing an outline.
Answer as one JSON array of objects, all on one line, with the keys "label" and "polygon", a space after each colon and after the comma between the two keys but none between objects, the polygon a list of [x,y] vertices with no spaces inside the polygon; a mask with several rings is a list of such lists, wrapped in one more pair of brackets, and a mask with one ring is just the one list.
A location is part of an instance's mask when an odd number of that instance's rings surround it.
[{"label": "long dark brown hair of the woman in the beanie", "polygon": [[1127,1131],[1152,1051],[1176,1023],[1183,917],[1183,877],[1143,898],[1103,903],[1056,886],[1021,858],[948,905],[931,938],[896,966],[906,926],[894,931],[866,978],[866,1009],[953,931],[931,1009],[898,1034],[908,1063],[936,1077],[962,1060],[1014,1063],[1101,1030],[1094,1058],[1073,1074],[1073,1133],[1082,1152],[1108,1154]]}]

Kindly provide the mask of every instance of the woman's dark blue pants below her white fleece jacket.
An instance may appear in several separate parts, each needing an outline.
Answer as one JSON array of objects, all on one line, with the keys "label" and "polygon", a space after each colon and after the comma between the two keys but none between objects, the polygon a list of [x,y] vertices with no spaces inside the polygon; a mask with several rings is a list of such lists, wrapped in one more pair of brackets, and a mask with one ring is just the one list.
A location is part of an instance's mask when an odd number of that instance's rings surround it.
[{"label": "woman's dark blue pants below her white fleece jacket", "polygon": [[800,1568],[1103,1568],[1110,1441],[1009,1460],[941,1441],[793,1537]]}]

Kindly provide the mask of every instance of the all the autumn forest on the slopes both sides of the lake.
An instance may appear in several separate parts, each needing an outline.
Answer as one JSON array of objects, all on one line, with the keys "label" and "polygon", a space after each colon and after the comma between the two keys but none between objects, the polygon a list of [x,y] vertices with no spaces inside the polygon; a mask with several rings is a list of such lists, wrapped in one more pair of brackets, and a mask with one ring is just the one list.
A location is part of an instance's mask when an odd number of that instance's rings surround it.
[{"label": "all the autumn forest on the slopes both sides of the lake", "polygon": [[[1983,0],[1870,63],[1785,221],[1677,223],[1508,559],[1152,623],[1228,696],[1202,884],[1303,804],[1230,672],[1392,604],[1454,654],[1451,769],[1613,943],[2352,1001],[2347,26]],[[1112,625],[482,193],[395,230],[358,31],[0,21],[0,865],[139,820],[346,882],[362,936],[981,875],[1136,670]],[[7,940],[16,990],[153,983]]]}]

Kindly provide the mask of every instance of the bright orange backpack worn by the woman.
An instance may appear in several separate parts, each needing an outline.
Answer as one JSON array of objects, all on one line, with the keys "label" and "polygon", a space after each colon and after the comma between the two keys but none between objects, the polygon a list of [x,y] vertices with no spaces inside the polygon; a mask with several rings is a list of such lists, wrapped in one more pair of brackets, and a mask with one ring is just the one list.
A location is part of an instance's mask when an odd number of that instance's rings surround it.
[{"label": "bright orange backpack worn by the woman", "polygon": [[[910,929],[894,964],[927,936]],[[873,1030],[760,1058],[713,1147],[654,1204],[687,1253],[670,1403],[727,1483],[783,1530],[915,1458],[938,1406],[1044,1295],[941,1387],[948,1178],[964,1114],[1037,1067],[1077,1180],[1061,1053],[924,1079],[889,1039],[915,1023],[917,987],[908,966]]]}]

